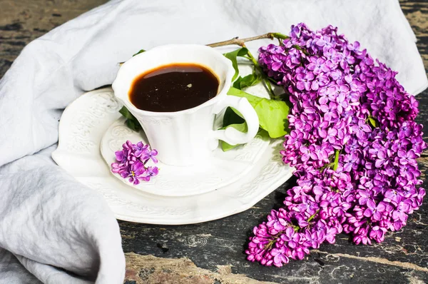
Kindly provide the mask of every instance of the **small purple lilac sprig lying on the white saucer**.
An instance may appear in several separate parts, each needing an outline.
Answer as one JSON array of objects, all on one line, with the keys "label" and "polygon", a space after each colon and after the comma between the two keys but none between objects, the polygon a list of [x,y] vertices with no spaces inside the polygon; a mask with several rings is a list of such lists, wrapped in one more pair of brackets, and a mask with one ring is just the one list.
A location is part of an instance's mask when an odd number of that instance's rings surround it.
[{"label": "small purple lilac sprig lying on the white saucer", "polygon": [[111,171],[118,173],[122,178],[128,178],[130,183],[137,185],[140,181],[150,181],[157,176],[159,169],[156,166],[146,166],[148,161],[158,163],[158,151],[150,146],[138,142],[126,141],[121,151],[116,151],[116,163],[111,164]]}]

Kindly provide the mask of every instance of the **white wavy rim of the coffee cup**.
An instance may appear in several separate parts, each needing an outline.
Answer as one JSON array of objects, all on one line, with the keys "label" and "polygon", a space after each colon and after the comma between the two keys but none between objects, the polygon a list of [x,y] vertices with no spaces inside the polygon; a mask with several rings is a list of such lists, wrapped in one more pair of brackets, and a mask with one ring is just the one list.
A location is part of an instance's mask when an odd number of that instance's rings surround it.
[{"label": "white wavy rim of the coffee cup", "polygon": [[[126,92],[125,94],[119,93],[118,95],[116,95],[116,91],[118,88],[116,88],[115,86],[118,85],[118,78],[120,79],[120,76],[121,74],[123,74],[124,70],[126,69],[126,66],[129,66],[130,64],[133,63],[133,61],[136,61],[141,57],[151,56],[151,51],[161,51],[162,49],[167,49],[167,50],[177,49],[178,47],[185,48],[185,49],[205,49],[206,51],[212,52],[213,56],[217,57],[217,60],[223,61],[223,63],[225,63],[226,66],[228,66],[228,71],[226,71],[225,83],[223,85],[223,88],[220,90],[220,92],[218,92],[218,94],[215,97],[210,98],[208,101],[205,101],[204,103],[201,103],[198,106],[194,106],[193,108],[187,108],[181,111],[157,112],[157,111],[145,111],[134,106],[129,99],[128,92]],[[180,63],[180,62],[176,62],[176,63]],[[196,62],[196,64],[198,63]],[[159,66],[162,66],[162,65],[163,64],[159,64]],[[205,67],[210,68],[209,66],[205,66]],[[132,111],[136,111],[136,113],[140,113],[145,116],[176,116],[183,113],[193,113],[195,111],[198,111],[200,108],[204,108],[205,106],[209,106],[211,104],[216,103],[221,98],[223,98],[223,96],[226,96],[230,86],[232,85],[232,78],[234,74],[235,74],[235,69],[233,69],[232,61],[227,59],[220,52],[216,51],[213,47],[204,46],[202,44],[165,44],[165,45],[153,47],[148,51],[145,51],[141,54],[137,54],[136,56],[131,57],[131,59],[128,59],[125,63],[122,64],[121,68],[118,70],[118,73],[116,74],[116,78],[114,79],[111,87],[113,88],[113,93],[115,97],[118,98],[118,100],[121,101],[121,103],[123,103],[123,105],[126,106],[126,108],[128,109],[131,108]],[[218,74],[215,74],[215,75],[218,76]],[[123,96],[126,96],[126,98],[123,98]]]}]

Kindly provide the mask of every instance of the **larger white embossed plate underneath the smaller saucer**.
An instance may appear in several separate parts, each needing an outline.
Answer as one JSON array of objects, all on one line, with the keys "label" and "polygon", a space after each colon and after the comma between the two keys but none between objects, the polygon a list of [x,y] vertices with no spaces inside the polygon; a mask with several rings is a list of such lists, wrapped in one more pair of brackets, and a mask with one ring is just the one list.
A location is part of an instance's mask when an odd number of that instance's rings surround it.
[{"label": "larger white embossed plate underneath the smaller saucer", "polygon": [[280,161],[281,141],[271,141],[260,160],[235,183],[198,196],[165,197],[138,191],[111,175],[99,151],[106,129],[121,117],[111,88],[83,94],[63,113],[54,161],[101,193],[116,218],[137,223],[201,223],[251,208],[292,176]]}]

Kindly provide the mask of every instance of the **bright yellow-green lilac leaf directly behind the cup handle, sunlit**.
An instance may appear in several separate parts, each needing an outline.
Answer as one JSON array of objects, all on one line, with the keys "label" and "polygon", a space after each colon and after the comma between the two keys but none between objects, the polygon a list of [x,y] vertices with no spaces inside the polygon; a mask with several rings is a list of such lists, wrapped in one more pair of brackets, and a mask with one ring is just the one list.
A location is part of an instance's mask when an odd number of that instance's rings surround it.
[{"label": "bright yellow-green lilac leaf directly behind the cup handle, sunlit", "polygon": [[269,133],[270,138],[279,138],[289,132],[287,116],[290,106],[285,101],[260,98],[233,87],[229,89],[228,95],[248,99],[258,115],[260,127]]}]

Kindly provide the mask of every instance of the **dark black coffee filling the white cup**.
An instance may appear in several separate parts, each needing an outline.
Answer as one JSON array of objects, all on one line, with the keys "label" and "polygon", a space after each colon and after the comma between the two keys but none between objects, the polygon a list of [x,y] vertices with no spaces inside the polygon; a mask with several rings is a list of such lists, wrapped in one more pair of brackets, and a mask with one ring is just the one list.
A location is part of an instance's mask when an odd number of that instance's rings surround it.
[{"label": "dark black coffee filling the white cup", "polygon": [[199,106],[218,93],[219,81],[198,64],[169,64],[136,77],[129,99],[143,111],[183,111]]}]

